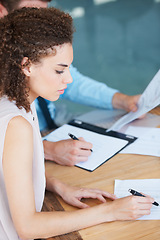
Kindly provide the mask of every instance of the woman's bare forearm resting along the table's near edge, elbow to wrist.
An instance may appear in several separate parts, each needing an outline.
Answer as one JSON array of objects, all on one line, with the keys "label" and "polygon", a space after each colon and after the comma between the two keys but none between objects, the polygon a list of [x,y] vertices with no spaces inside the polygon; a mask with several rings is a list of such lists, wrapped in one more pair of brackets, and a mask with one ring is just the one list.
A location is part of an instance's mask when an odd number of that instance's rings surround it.
[{"label": "woman's bare forearm resting along the table's near edge, elbow to wrist", "polygon": [[96,207],[76,210],[73,212],[40,212],[28,218],[19,226],[17,232],[22,239],[48,238],[82,228],[111,221],[110,204],[100,204]]}]

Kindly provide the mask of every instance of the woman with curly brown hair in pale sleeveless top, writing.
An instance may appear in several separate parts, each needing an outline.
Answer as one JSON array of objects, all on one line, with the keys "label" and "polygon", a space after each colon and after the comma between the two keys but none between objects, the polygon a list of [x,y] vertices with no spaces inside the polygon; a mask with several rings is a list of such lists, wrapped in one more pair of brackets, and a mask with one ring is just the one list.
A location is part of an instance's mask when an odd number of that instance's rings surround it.
[{"label": "woman with curly brown hair in pale sleeveless top, writing", "polygon": [[[33,101],[55,101],[72,82],[72,18],[60,10],[21,9],[0,20],[0,238],[47,238],[150,213],[153,199],[116,199],[97,189],[69,187],[44,174]],[[73,212],[41,212],[45,187]],[[106,203],[105,197],[113,201]],[[89,208],[81,198],[103,204]]]}]

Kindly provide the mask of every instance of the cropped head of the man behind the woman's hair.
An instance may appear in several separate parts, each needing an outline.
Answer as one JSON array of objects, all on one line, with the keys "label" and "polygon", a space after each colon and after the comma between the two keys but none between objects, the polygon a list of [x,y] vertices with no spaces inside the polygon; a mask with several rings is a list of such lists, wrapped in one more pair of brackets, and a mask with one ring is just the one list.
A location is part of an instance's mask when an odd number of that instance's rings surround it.
[{"label": "cropped head of the man behind the woman's hair", "polygon": [[47,8],[51,0],[0,0],[0,18],[22,7]]}]

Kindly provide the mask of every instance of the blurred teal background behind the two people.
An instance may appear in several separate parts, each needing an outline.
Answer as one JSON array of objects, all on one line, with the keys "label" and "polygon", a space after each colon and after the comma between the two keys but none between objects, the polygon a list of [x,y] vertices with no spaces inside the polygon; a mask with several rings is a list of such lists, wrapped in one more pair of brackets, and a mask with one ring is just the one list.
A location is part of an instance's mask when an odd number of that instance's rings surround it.
[{"label": "blurred teal background behind the two people", "polygon": [[[52,0],[74,18],[73,65],[122,93],[142,93],[160,68],[160,0]],[[77,115],[93,108],[59,100]]]}]

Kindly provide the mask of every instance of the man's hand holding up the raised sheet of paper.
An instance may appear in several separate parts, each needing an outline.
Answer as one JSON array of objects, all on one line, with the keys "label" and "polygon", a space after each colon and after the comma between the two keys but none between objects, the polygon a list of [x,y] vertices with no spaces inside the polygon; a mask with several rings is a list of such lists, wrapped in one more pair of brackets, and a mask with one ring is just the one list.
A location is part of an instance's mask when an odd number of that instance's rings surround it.
[{"label": "man's hand holding up the raised sheet of paper", "polygon": [[123,109],[127,112],[136,112],[140,96],[141,95],[128,96],[123,93],[115,93],[112,98],[112,106],[117,109]]}]

